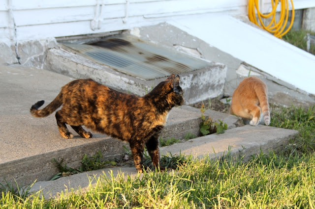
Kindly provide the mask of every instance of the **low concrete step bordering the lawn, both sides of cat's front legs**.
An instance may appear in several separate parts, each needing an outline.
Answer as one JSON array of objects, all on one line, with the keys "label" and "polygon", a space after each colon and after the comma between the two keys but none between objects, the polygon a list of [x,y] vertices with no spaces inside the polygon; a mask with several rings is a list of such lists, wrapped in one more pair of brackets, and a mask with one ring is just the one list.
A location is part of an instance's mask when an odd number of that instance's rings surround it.
[{"label": "low concrete step bordering the lawn, both sides of cat's front legs", "polygon": [[[220,114],[220,113],[217,113]],[[246,125],[229,129],[223,134],[211,134],[202,137],[190,139],[188,141],[173,144],[160,148],[161,155],[192,155],[193,157],[210,158],[221,157],[230,151],[234,157],[243,157],[243,160],[249,160],[252,155],[267,153],[271,150],[282,149],[288,140],[296,137],[298,131],[274,128],[269,126],[258,125],[252,127]],[[113,167],[96,171],[76,174],[73,176],[62,177],[55,181],[37,182],[33,185],[32,191],[42,190],[45,198],[58,197],[62,191],[75,190],[85,191],[89,184],[95,185],[98,178],[112,178],[118,175],[136,177],[143,174],[137,174],[134,167]]]}]

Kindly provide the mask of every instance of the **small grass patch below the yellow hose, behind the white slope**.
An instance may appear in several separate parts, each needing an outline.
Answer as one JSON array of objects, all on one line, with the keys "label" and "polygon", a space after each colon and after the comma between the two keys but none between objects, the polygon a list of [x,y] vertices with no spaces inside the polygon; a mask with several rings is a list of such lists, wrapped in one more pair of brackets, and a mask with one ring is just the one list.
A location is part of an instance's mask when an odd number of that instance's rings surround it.
[{"label": "small grass patch below the yellow hose, behind the white slope", "polygon": [[[315,32],[310,32],[306,30],[290,30],[282,37],[282,39],[304,51],[307,51],[307,40],[305,38],[307,33],[310,33],[310,35],[315,35]],[[310,53],[315,55],[315,45],[311,44]]]}]

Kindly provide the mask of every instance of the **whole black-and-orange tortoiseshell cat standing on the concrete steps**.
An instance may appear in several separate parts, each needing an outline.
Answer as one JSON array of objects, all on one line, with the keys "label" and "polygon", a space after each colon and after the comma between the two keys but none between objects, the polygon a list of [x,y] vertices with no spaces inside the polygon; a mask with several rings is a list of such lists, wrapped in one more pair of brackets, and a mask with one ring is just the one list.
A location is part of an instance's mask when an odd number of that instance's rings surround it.
[{"label": "whole black-and-orange tortoiseshell cat standing on the concrete steps", "polygon": [[144,146],[153,165],[159,164],[158,135],[172,107],[184,104],[179,76],[171,75],[143,97],[115,91],[92,79],[77,79],[62,87],[59,95],[45,108],[39,101],[31,107],[34,117],[56,112],[58,129],[64,138],[72,138],[66,124],[82,137],[92,133],[81,126],[129,142],[134,165],[142,172]]}]

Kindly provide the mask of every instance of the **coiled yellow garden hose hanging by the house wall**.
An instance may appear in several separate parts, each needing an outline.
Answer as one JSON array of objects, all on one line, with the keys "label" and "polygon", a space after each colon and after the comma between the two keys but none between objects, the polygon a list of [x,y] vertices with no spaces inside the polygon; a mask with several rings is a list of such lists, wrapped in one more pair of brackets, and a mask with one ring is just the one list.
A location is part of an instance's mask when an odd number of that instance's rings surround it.
[{"label": "coiled yellow garden hose hanging by the house wall", "polygon": [[[280,11],[279,22],[277,22],[276,21],[276,9],[277,9],[279,2],[281,3],[281,11]],[[287,24],[287,20],[288,20],[288,16],[289,16],[288,0],[271,0],[271,5],[272,5],[272,11],[269,14],[262,14],[259,11],[258,0],[249,0],[249,2],[248,2],[248,17],[252,23],[267,30],[270,33],[273,33],[274,36],[281,38],[283,35],[285,35],[291,29],[291,27],[293,25],[293,21],[294,21],[293,0],[291,0],[291,5],[292,5],[291,23],[285,31],[284,31],[284,29],[285,29],[285,26]],[[255,10],[257,12],[257,17],[259,19],[260,24],[256,20]],[[262,21],[262,18],[266,19],[266,18],[270,18],[270,17],[272,17],[270,24],[268,26],[265,26],[263,21]]]}]

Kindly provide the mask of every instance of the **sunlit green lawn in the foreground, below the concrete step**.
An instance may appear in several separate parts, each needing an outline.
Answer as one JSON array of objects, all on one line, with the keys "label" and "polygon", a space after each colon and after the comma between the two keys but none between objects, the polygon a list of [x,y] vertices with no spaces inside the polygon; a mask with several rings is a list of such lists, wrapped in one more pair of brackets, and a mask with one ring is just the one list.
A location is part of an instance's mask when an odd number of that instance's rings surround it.
[{"label": "sunlit green lawn in the foreground, below the concrete step", "polygon": [[[315,208],[314,107],[272,106],[271,125],[300,131],[281,151],[247,162],[229,153],[220,160],[162,157],[175,171],[142,178],[98,179],[86,192],[45,200],[3,192],[0,208]],[[176,159],[176,160],[174,160]],[[174,162],[178,162],[177,164]]]}]

